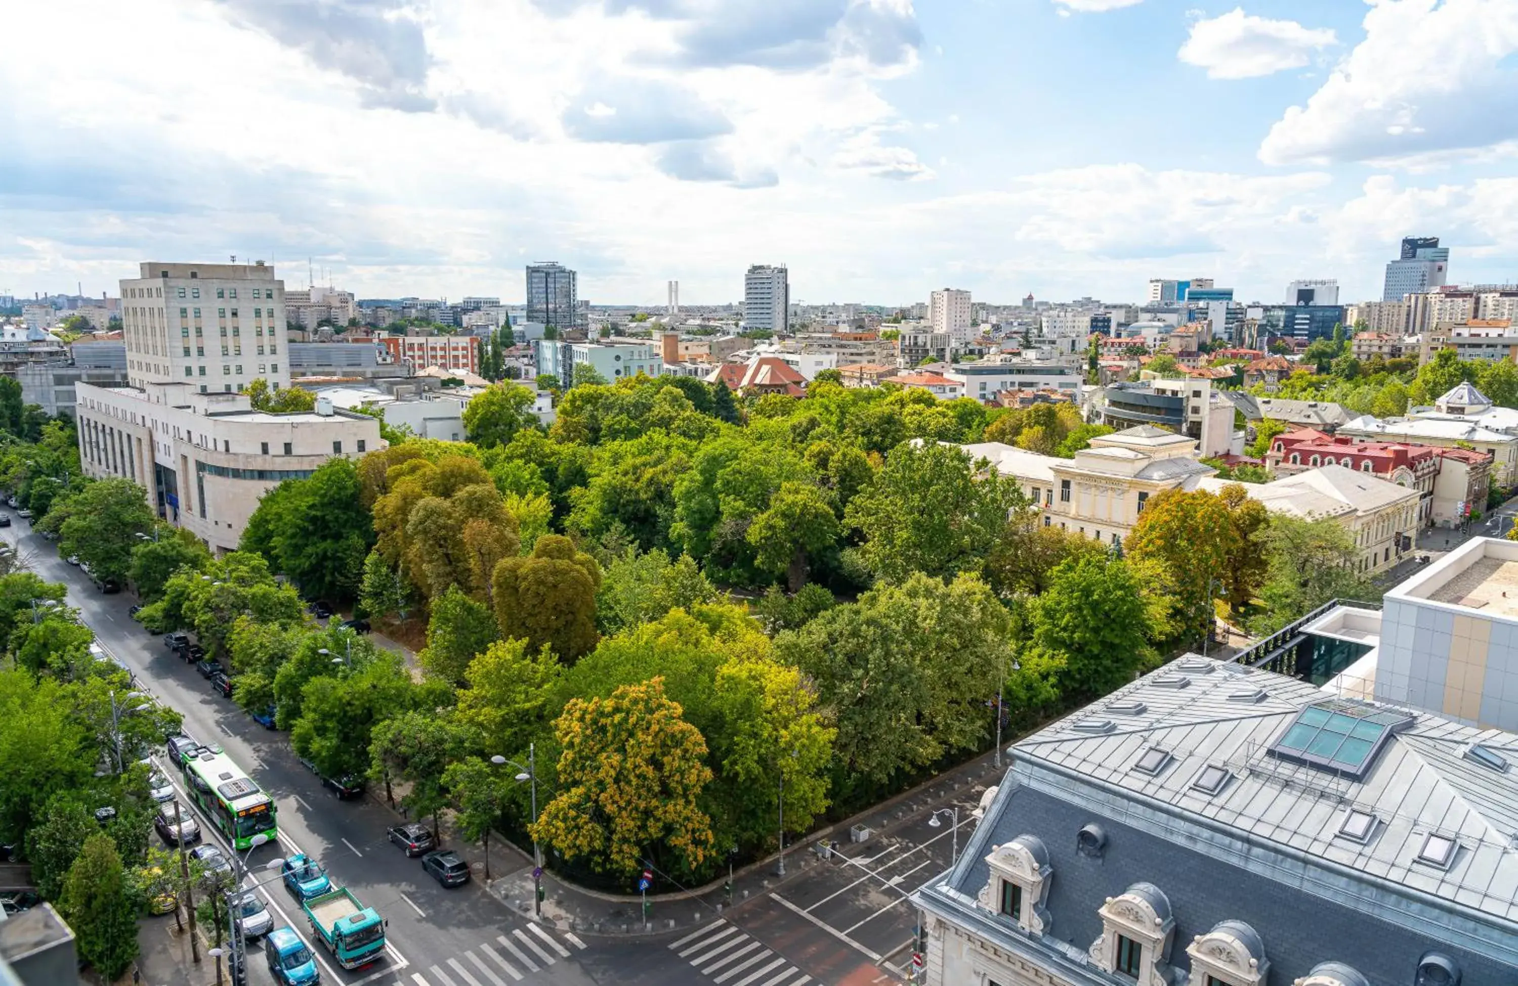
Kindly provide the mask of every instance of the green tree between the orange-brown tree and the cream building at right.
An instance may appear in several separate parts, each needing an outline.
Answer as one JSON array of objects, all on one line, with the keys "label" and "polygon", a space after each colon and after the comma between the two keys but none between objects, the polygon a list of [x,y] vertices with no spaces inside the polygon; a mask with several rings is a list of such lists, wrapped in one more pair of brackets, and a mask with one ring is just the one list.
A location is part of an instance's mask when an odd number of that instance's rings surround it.
[{"label": "green tree between the orange-brown tree and the cream building at right", "polygon": [[1271,517],[1260,532],[1269,558],[1254,633],[1271,633],[1333,599],[1374,599],[1378,593],[1357,570],[1360,549],[1331,517]]}]

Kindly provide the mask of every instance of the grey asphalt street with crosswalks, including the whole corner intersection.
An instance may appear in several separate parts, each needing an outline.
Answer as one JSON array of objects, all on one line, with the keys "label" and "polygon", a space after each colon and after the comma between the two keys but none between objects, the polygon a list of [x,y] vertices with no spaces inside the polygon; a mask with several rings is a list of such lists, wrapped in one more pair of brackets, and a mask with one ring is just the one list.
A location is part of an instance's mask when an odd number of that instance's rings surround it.
[{"label": "grey asphalt street with crosswalks, including the whole corner intersection", "polygon": [[[67,604],[79,610],[100,645],[137,675],[138,687],[184,714],[187,734],[220,745],[275,798],[279,839],[247,853],[249,880],[260,881],[258,893],[267,901],[275,925],[288,925],[311,947],[323,983],[856,986],[899,981],[914,925],[906,897],[949,865],[950,827],[931,830],[918,821],[890,839],[841,846],[830,860],[812,859],[805,874],[786,881],[783,893],[767,892],[741,901],[721,919],[695,930],[612,937],[536,924],[486,892],[478,866],[468,884],[439,886],[419,860],[407,859],[386,839],[386,830],[401,821],[398,813],[373,798],[339,801],[323,789],[299,763],[287,734],[264,730],[231,699],[214,693],[193,664],[131,619],[131,595],[100,595],[79,569],[58,557],[53,543],[33,534],[26,520],[15,519],[6,540],[36,575],[68,586]],[[179,771],[167,766],[162,749],[155,758],[188,804]],[[959,796],[961,819],[979,790]],[[200,828],[223,853],[232,854],[208,819],[202,818]],[[962,828],[961,843],[965,834]],[[266,871],[272,860],[296,853],[320,862],[334,886],[348,887],[387,919],[383,960],[348,972],[313,940],[299,904],[275,874]],[[505,878],[521,877],[531,860],[513,848],[498,846],[493,863],[493,875]],[[792,866],[800,868],[800,860]],[[209,963],[211,959],[205,959],[206,968]],[[272,983],[261,944],[249,947],[249,969],[254,984]],[[167,986],[152,978],[144,983]]]}]

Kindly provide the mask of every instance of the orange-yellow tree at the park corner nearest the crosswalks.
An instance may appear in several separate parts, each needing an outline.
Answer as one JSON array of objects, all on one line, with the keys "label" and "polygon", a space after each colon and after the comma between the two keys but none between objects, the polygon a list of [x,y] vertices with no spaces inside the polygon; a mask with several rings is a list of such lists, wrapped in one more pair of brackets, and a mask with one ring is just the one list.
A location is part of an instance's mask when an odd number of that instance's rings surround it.
[{"label": "orange-yellow tree at the park corner nearest the crosswalks", "polygon": [[572,699],[554,724],[559,793],[533,837],[566,859],[631,875],[645,853],[695,872],[712,853],[710,818],[697,801],[712,780],[706,740],[663,693],[663,678],[610,698]]}]

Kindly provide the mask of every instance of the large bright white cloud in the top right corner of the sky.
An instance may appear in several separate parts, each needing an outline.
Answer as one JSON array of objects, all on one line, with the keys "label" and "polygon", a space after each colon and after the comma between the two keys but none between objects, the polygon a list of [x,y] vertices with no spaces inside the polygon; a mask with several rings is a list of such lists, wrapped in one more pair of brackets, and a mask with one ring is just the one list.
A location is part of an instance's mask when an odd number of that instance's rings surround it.
[{"label": "large bright white cloud in the top right corner of the sky", "polygon": [[1271,127],[1260,159],[1403,164],[1518,138],[1513,52],[1513,0],[1372,0],[1365,39]]}]

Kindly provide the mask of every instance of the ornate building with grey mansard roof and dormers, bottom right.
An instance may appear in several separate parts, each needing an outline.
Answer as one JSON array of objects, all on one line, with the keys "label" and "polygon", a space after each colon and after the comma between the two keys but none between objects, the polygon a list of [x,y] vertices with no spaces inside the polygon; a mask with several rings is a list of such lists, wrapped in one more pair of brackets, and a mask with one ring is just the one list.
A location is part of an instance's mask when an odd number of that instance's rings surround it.
[{"label": "ornate building with grey mansard roof and dormers, bottom right", "polygon": [[927,986],[1518,981],[1518,736],[1187,655],[1011,754]]}]

